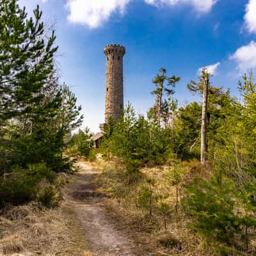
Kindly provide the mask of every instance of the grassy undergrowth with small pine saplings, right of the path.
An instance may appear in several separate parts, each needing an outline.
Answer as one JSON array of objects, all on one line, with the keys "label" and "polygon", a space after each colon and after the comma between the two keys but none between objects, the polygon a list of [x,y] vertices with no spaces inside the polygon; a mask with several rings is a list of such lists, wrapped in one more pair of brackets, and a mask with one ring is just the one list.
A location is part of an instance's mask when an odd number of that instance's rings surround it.
[{"label": "grassy undergrowth with small pine saplings, right of the path", "polygon": [[[152,244],[166,255],[241,255],[228,250],[225,244],[208,243],[204,236],[196,234],[190,228],[195,221],[193,216],[180,203],[186,201],[183,184],[190,184],[196,176],[206,179],[211,166],[206,171],[197,161],[191,161],[180,163],[179,168],[179,179],[173,179],[173,170],[168,166],[129,173],[122,164],[105,165],[101,182],[110,198],[109,208],[138,232],[138,239],[141,234],[150,237]],[[251,252],[242,254],[249,256]]]}]

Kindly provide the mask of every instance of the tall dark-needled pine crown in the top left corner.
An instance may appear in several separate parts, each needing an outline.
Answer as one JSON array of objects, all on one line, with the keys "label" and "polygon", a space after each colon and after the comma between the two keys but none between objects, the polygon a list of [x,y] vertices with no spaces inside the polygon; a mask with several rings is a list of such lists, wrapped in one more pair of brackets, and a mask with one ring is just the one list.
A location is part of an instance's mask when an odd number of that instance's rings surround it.
[{"label": "tall dark-needled pine crown in the top left corner", "polygon": [[[33,108],[42,101],[45,84],[54,73],[54,32],[45,42],[42,12],[28,19],[17,0],[0,3],[0,120],[20,115],[31,118]],[[3,126],[2,126],[3,127]]]}]

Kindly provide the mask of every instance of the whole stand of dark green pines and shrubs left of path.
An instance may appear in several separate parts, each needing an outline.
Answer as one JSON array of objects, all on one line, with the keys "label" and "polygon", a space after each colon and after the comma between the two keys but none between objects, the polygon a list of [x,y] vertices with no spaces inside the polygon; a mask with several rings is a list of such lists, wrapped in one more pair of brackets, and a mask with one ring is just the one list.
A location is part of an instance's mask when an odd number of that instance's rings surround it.
[{"label": "whole stand of dark green pines and shrubs left of path", "polygon": [[0,207],[60,199],[56,173],[70,170],[66,138],[81,107],[56,72],[56,36],[17,0],[0,2]]}]

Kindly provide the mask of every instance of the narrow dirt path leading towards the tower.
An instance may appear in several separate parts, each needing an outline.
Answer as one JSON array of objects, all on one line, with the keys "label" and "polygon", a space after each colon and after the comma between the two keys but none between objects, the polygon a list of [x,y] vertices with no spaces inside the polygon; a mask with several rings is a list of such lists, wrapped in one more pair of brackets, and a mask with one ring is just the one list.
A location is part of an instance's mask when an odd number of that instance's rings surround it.
[{"label": "narrow dirt path leading towards the tower", "polygon": [[[100,172],[86,163],[78,163],[77,180],[68,190],[67,203],[76,212],[86,244],[97,256],[135,256],[136,245],[119,227],[104,207],[106,196],[97,193],[97,175]],[[146,255],[146,254],[145,254]],[[150,254],[147,254],[150,255]],[[142,254],[140,253],[140,256]]]}]

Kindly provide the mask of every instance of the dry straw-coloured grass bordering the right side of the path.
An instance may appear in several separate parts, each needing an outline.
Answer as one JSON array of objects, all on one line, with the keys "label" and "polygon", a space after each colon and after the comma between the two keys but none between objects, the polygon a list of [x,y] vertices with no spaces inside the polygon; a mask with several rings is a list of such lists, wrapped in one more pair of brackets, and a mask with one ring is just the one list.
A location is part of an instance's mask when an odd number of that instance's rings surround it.
[{"label": "dry straw-coloured grass bordering the right side of the path", "polygon": [[[168,166],[143,168],[141,170],[143,179],[136,184],[124,186],[122,166],[111,163],[105,167],[102,175],[103,190],[111,196],[108,199],[108,209],[115,212],[120,218],[119,221],[131,229],[130,232],[134,234],[136,243],[148,241],[154,248],[154,255],[216,255],[211,248],[205,246],[202,238],[195,236],[189,230],[189,219],[180,209],[177,217],[174,210],[175,188],[166,175],[168,170]],[[156,195],[170,195],[166,199],[172,209],[168,215],[167,230],[164,228],[163,216],[159,212],[155,210],[153,218],[150,219],[148,212],[137,205],[136,198],[140,193],[141,185],[147,184],[145,180],[148,178],[156,181],[154,186]]]}]

